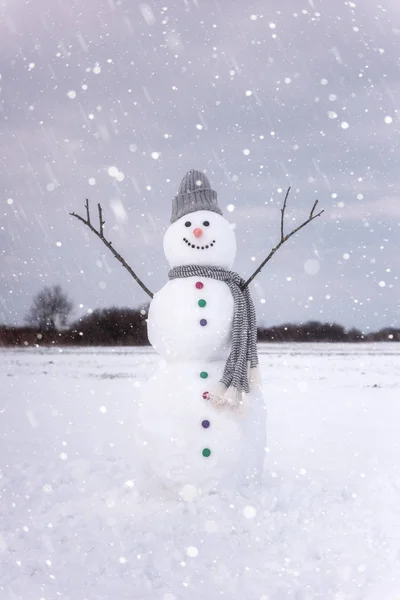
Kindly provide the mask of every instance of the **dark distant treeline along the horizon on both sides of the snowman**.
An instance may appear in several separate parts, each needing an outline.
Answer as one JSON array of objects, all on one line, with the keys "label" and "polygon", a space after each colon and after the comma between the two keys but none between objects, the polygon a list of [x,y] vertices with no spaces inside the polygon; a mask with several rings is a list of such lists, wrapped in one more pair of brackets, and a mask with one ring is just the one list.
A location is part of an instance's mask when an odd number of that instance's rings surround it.
[{"label": "dark distant treeline along the horizon on both sides of the snowman", "polygon": [[[68,329],[42,331],[35,327],[0,325],[0,346],[144,346],[147,308],[105,308],[81,317]],[[400,329],[373,333],[345,329],[336,323],[285,323],[258,330],[260,342],[400,342]]]}]

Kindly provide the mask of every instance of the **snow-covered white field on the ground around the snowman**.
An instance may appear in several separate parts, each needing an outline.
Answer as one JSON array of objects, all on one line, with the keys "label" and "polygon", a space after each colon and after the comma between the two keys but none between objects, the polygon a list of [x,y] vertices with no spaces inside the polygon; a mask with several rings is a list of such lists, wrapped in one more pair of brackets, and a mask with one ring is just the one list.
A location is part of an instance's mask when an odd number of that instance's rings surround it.
[{"label": "snow-covered white field on the ground around the snowman", "polygon": [[0,351],[0,599],[399,600],[400,345],[264,345],[261,492],[147,501],[148,348]]}]

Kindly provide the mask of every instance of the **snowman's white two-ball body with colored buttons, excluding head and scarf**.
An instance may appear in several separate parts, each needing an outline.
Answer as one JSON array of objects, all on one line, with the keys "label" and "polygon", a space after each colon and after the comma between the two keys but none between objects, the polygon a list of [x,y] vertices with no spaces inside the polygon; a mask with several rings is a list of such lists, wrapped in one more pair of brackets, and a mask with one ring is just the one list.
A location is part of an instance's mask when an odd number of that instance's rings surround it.
[{"label": "snowman's white two-ball body with colored buttons, excluding head and scarf", "polygon": [[147,480],[209,490],[262,469],[261,391],[246,413],[215,408],[205,395],[230,352],[234,301],[228,285],[205,277],[169,281],[150,305],[149,340],[162,364],[143,389],[137,442]]}]

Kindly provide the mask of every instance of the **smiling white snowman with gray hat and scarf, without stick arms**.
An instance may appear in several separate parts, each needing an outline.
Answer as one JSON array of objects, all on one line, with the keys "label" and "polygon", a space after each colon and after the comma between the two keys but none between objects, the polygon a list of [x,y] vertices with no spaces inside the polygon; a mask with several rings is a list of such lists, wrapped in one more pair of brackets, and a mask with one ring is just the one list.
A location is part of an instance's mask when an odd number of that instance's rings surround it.
[{"label": "smiling white snowman with gray hat and scarf, without stick arms", "polygon": [[180,494],[237,488],[263,470],[266,412],[248,288],[231,271],[236,239],[204,173],[189,171],[164,237],[169,281],[148,337],[160,355],[135,424],[140,479]]}]

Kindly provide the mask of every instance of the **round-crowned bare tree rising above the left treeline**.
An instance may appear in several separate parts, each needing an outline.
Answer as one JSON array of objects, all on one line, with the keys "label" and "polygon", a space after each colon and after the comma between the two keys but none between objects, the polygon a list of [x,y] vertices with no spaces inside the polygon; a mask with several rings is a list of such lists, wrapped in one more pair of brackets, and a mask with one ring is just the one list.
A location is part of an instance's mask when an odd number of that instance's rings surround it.
[{"label": "round-crowned bare tree rising above the left treeline", "polygon": [[72,302],[59,285],[45,287],[33,299],[25,320],[42,331],[56,331],[67,324]]}]

